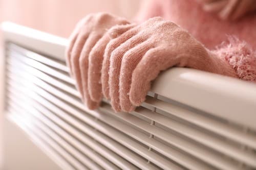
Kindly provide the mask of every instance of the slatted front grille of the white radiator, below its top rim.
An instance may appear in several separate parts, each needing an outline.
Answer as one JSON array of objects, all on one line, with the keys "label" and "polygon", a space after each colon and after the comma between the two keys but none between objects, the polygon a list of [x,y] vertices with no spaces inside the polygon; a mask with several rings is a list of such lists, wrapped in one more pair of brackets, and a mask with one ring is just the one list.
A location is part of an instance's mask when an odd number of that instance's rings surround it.
[{"label": "slatted front grille of the white radiator, below its top rim", "polygon": [[6,45],[6,110],[64,169],[255,169],[256,132],[154,92],[88,110],[64,61]]}]

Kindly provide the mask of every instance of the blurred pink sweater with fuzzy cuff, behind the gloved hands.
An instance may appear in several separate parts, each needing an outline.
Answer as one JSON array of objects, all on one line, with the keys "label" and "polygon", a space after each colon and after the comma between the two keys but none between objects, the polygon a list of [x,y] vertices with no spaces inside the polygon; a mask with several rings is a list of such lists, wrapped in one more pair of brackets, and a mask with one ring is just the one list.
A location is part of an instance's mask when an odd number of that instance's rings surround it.
[{"label": "blurred pink sweater with fuzzy cuff, behind the gloved hands", "polygon": [[195,0],[151,0],[138,19],[162,16],[190,32],[230,64],[242,80],[256,82],[256,12],[236,21],[203,11]]}]

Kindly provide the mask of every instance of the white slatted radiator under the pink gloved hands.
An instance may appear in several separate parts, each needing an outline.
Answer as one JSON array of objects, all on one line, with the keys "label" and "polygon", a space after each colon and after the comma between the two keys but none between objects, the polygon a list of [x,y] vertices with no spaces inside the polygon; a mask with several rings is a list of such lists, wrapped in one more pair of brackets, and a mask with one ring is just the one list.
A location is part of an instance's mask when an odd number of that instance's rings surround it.
[{"label": "white slatted radiator under the pink gloved hands", "polygon": [[172,68],[133,113],[81,103],[66,39],[6,22],[6,116],[63,169],[256,169],[256,85]]}]

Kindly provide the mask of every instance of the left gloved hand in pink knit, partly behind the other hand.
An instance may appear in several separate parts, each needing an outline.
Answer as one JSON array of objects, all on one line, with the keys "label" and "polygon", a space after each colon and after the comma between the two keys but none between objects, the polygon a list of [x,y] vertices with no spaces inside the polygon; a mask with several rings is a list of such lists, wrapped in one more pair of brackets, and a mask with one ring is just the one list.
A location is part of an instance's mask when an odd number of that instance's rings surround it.
[{"label": "left gloved hand in pink knit, partly behind the other hand", "polygon": [[71,34],[66,51],[67,65],[88,108],[97,108],[102,98],[100,77],[106,44],[130,28],[124,18],[96,13],[79,21]]}]

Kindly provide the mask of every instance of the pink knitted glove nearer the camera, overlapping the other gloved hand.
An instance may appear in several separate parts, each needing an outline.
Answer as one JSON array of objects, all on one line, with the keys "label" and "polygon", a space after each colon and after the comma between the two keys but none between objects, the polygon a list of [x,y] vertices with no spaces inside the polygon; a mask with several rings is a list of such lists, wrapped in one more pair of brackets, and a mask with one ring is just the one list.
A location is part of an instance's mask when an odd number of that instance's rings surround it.
[{"label": "pink knitted glove nearer the camera, overlapping the other gloved hand", "polygon": [[116,111],[139,106],[161,70],[191,67],[237,77],[218,54],[209,52],[187,31],[155,17],[143,22],[106,46],[102,65],[102,91]]}]

